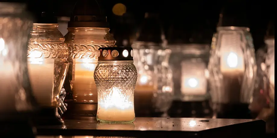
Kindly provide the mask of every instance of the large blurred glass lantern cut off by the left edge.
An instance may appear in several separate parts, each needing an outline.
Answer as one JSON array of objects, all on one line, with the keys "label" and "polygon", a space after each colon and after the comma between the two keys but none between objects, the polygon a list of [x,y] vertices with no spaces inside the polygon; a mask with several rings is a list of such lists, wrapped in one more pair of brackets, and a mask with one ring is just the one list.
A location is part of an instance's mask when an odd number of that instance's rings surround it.
[{"label": "large blurred glass lantern cut off by the left edge", "polygon": [[[22,3],[0,2],[0,132],[2,137],[35,137],[30,115],[34,100],[27,69],[32,26]],[[16,132],[16,133],[14,133]]]}]

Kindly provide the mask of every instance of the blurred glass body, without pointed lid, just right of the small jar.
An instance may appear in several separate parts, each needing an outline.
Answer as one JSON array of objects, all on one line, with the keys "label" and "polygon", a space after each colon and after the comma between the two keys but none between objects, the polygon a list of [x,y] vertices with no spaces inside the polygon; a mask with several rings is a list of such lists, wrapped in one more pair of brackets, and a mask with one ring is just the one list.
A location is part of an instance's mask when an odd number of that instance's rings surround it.
[{"label": "blurred glass body, without pointed lid, just right of the small jar", "polygon": [[144,41],[135,41],[132,48],[138,71],[135,112],[139,116],[160,116],[172,103],[172,70],[168,65],[171,51],[161,44]]}]

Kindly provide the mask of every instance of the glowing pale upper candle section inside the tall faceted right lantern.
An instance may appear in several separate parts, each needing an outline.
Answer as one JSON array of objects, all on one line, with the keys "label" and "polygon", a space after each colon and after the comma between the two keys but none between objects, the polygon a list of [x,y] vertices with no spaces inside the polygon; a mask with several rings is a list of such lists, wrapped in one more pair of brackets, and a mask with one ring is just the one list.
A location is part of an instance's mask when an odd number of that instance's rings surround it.
[{"label": "glowing pale upper candle section inside the tall faceted right lantern", "polygon": [[221,34],[220,45],[220,69],[221,73],[241,73],[245,70],[244,54],[241,46],[241,36],[237,32],[230,31]]}]

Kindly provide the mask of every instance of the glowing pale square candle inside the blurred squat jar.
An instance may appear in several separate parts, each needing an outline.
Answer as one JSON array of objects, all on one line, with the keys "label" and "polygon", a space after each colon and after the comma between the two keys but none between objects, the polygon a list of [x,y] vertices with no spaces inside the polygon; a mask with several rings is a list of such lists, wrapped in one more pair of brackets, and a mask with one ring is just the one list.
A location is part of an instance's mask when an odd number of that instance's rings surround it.
[{"label": "glowing pale square candle inside the blurred squat jar", "polygon": [[203,95],[207,92],[204,62],[186,60],[181,63],[181,92],[188,95]]}]

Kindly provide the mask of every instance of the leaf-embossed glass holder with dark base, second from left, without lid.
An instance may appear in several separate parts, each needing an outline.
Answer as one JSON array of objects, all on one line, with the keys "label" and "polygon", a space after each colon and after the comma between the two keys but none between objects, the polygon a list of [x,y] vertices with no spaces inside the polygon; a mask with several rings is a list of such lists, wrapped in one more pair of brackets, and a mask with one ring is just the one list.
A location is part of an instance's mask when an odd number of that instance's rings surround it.
[{"label": "leaf-embossed glass holder with dark base, second from left, without lid", "polygon": [[33,93],[41,107],[37,118],[39,126],[63,125],[57,109],[68,70],[68,48],[64,40],[58,24],[33,23],[27,60]]}]

